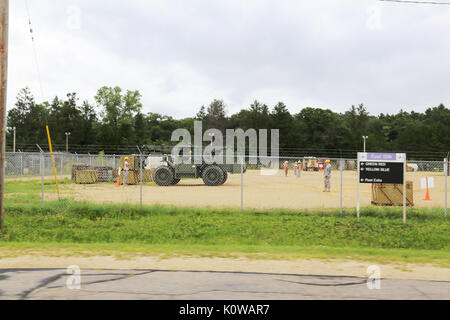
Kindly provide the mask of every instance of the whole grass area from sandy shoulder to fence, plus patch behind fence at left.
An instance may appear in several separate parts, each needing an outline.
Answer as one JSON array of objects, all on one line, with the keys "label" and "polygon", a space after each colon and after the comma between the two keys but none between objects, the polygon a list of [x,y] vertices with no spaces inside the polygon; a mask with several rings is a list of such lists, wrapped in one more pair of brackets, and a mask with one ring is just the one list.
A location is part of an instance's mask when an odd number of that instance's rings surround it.
[{"label": "whole grass area from sandy shoulder to fence, plus patch behind fence at left", "polygon": [[[69,183],[69,181],[62,181]],[[54,188],[50,183],[49,187]],[[46,201],[40,182],[8,182],[0,256],[46,250],[201,256],[344,258],[450,266],[450,222],[442,209],[256,211]],[[8,253],[7,253],[8,252]]]}]

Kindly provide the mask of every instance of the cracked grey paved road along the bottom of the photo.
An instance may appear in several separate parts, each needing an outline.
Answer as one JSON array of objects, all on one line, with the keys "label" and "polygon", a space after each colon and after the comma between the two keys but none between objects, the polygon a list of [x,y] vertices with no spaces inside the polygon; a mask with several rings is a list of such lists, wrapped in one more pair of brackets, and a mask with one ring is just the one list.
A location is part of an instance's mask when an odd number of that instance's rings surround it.
[{"label": "cracked grey paved road along the bottom of the photo", "polygon": [[0,270],[0,299],[450,299],[450,281],[230,272],[81,270],[70,290],[64,269]]}]

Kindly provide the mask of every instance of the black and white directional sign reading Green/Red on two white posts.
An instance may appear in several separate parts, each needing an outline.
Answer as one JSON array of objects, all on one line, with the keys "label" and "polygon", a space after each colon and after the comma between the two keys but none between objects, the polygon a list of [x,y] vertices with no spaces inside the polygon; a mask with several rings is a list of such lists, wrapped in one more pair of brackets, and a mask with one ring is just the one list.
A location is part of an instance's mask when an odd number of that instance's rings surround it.
[{"label": "black and white directional sign reading Green/Red on two white posts", "polygon": [[406,223],[406,154],[358,153],[358,188],[356,212],[359,220],[360,183],[403,184],[403,223]]}]

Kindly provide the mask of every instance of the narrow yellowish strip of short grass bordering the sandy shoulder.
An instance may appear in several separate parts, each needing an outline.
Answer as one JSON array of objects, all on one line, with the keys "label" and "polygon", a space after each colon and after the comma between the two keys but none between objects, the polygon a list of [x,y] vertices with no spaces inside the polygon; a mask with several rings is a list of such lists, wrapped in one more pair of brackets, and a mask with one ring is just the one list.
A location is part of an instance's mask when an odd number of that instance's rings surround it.
[{"label": "narrow yellowish strip of short grass bordering the sandy shoulder", "polygon": [[293,246],[245,246],[245,245],[151,245],[123,243],[45,243],[0,242],[0,260],[24,255],[47,257],[113,256],[126,259],[154,256],[158,259],[172,257],[194,258],[242,258],[296,260],[357,260],[376,263],[429,263],[438,267],[450,267],[448,252],[442,250],[293,247]]}]

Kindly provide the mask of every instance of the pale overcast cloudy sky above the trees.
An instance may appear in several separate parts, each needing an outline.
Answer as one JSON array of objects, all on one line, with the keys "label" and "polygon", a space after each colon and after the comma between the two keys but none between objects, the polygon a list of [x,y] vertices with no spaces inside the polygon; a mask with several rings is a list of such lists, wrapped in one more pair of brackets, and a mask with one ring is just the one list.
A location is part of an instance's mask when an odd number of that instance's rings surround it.
[{"label": "pale overcast cloudy sky above the trees", "polygon": [[[28,25],[33,25],[35,50]],[[8,109],[102,86],[190,117],[213,99],[372,114],[450,105],[450,5],[377,0],[13,0]],[[36,52],[36,54],[34,53]],[[38,72],[39,70],[39,72]],[[41,81],[39,80],[41,79]]]}]

